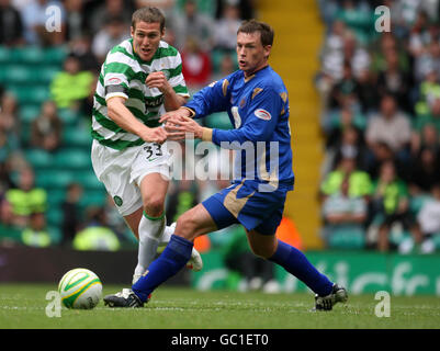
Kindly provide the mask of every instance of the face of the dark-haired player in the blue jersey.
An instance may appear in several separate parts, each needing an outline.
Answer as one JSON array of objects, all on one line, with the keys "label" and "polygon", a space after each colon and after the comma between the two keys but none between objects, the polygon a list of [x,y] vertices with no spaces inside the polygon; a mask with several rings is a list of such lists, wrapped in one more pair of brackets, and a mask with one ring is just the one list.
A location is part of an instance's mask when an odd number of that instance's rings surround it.
[{"label": "face of the dark-haired player in the blue jersey", "polygon": [[245,72],[245,77],[268,65],[271,45],[261,44],[260,32],[237,34],[238,68]]}]

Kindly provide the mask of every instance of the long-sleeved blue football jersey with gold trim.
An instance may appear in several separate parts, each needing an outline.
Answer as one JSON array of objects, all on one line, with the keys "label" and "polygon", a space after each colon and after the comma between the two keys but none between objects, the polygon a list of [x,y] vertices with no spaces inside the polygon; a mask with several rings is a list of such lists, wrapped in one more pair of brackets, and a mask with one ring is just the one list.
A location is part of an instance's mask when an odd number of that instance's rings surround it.
[{"label": "long-sleeved blue football jersey with gold trim", "polygon": [[226,111],[234,129],[213,129],[214,144],[238,150],[234,182],[256,181],[293,189],[289,97],[267,66],[245,78],[241,70],[195,93],[187,107],[195,118]]}]

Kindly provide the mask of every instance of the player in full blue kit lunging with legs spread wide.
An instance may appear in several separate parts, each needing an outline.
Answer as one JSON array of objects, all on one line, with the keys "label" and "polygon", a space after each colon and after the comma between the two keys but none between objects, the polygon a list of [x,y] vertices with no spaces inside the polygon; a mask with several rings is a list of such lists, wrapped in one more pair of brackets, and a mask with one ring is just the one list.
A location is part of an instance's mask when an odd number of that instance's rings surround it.
[{"label": "player in full blue kit lunging with legs spread wide", "polygon": [[[161,117],[169,138],[182,139],[192,134],[234,148],[240,154],[236,160],[241,165],[235,165],[238,173],[230,186],[179,217],[170,242],[148,272],[127,294],[105,296],[108,305],[143,306],[159,284],[185,264],[198,236],[237,223],[245,227],[255,254],[280,264],[315,292],[316,309],[329,310],[336,303],[347,301],[346,288],[330,282],[301,251],[275,237],[286,193],[293,190],[294,174],[287,91],[268,64],[272,42],[273,31],[268,24],[244,22],[237,33],[239,70],[202,89],[184,106]],[[193,121],[218,111],[227,111],[235,129],[210,129]],[[253,148],[248,157],[249,146]]]}]

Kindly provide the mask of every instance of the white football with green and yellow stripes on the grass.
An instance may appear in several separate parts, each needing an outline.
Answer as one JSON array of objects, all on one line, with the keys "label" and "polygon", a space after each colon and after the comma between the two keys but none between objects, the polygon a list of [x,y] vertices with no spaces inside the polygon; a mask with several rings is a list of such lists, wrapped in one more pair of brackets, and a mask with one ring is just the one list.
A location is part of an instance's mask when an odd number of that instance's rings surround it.
[{"label": "white football with green and yellow stripes on the grass", "polygon": [[102,284],[97,274],[77,268],[63,275],[58,284],[63,305],[67,308],[91,309],[98,305],[102,295]]}]

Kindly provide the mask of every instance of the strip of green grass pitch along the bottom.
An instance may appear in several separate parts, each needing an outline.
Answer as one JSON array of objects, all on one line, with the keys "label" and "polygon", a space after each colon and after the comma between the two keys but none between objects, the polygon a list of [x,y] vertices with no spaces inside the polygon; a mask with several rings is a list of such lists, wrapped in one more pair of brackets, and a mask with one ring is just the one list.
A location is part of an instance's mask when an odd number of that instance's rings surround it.
[{"label": "strip of green grass pitch along the bottom", "polygon": [[[104,286],[103,294],[121,286]],[[60,318],[45,314],[50,284],[0,284],[0,329],[419,329],[439,328],[436,296],[392,296],[391,317],[374,314],[373,295],[350,296],[330,313],[313,313],[312,294],[198,292],[159,287],[145,308],[112,309],[103,302],[92,310],[63,307]]]}]

